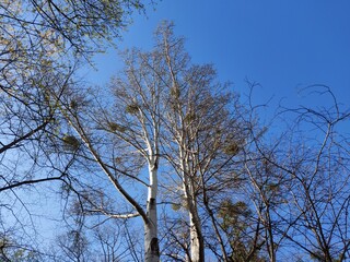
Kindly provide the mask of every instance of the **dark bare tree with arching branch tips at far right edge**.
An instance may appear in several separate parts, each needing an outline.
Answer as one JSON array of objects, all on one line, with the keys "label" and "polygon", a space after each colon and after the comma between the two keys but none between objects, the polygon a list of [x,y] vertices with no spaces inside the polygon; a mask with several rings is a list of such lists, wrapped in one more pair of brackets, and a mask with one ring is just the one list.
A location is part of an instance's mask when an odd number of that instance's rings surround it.
[{"label": "dark bare tree with arching branch tips at far right edge", "polygon": [[[350,253],[349,223],[349,138],[341,127],[350,118],[328,86],[311,86],[310,96],[330,98],[329,107],[300,107],[296,127],[305,143],[288,165],[293,178],[293,206],[299,221],[293,225],[293,241],[317,261],[346,261]],[[307,135],[312,129],[313,136]],[[292,141],[295,141],[294,132]]]}]

